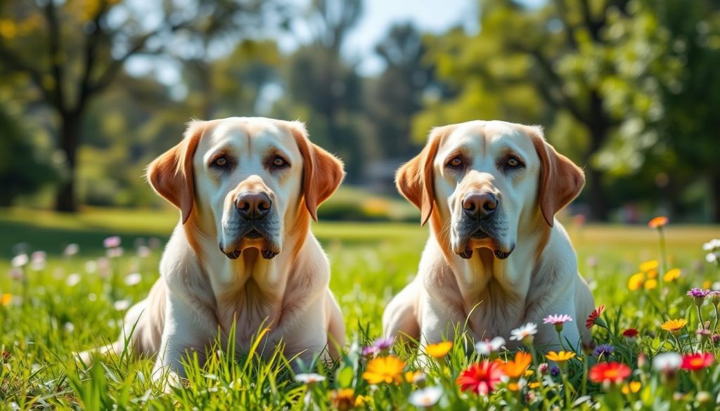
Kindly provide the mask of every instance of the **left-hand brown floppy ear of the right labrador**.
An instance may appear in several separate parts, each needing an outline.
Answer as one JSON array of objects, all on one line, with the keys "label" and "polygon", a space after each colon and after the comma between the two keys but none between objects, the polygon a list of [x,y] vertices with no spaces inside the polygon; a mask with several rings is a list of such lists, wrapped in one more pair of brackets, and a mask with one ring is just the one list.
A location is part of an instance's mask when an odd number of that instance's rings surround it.
[{"label": "left-hand brown floppy ear of the right labrador", "polygon": [[428,142],[420,154],[403,164],[395,173],[395,185],[402,197],[420,209],[420,225],[425,225],[435,206],[433,187],[433,161],[438,152],[441,138],[448,134],[451,126],[436,127],[431,131]]}]

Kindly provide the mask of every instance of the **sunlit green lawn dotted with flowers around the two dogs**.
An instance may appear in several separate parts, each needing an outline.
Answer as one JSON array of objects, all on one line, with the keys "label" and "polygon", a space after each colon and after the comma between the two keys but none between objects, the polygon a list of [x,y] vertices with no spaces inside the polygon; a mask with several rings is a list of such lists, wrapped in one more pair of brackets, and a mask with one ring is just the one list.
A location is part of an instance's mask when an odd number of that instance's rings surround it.
[{"label": "sunlit green lawn dotted with flowers around the two dogs", "polygon": [[[170,393],[161,392],[150,381],[150,361],[105,358],[88,370],[75,366],[71,353],[116,338],[124,306],[142,299],[157,279],[160,245],[176,219],[177,214],[170,210],[86,209],[77,216],[28,209],[0,211],[1,273],[11,270],[14,253],[46,253],[45,263],[24,267],[23,279],[0,276],[0,293],[4,294],[4,304],[0,305],[0,408],[99,409],[114,404],[120,409],[227,409],[231,405],[305,409],[308,402],[311,408],[357,405],[384,410],[412,408],[408,402],[412,392],[419,392],[413,402],[420,394],[432,399],[440,392],[435,407],[444,409],[472,405],[482,409],[491,404],[567,408],[572,404],[590,407],[593,403],[636,409],[661,405],[711,409],[720,392],[720,366],[692,373],[665,373],[653,371],[649,365],[663,351],[716,354],[720,348],[711,338],[696,338],[696,305],[685,296],[691,286],[708,288],[720,280],[719,271],[705,261],[706,251],[702,249],[703,243],[720,237],[720,230],[672,224],[665,227],[667,265],[681,268],[680,278],[664,281],[663,273],[654,276],[647,268],[646,274],[634,277],[635,284],[631,285],[639,289],[632,291],[629,280],[639,272],[641,263],[660,258],[657,230],[644,225],[567,224],[580,271],[588,279],[596,303],[607,307],[602,316],[606,328],[593,328],[595,340],[613,344],[615,351],[601,358],[578,351],[577,357],[559,363],[565,364],[562,369],[544,374],[536,366],[544,360],[536,353],[530,366],[532,374],[500,382],[489,395],[461,392],[455,384],[456,376],[468,364],[493,364],[482,362],[485,358],[480,358],[472,345],[464,344],[462,336],[439,360],[395,348],[395,354],[406,363],[405,370],[423,371],[420,380],[410,383],[403,379],[400,384],[380,383],[373,388],[362,376],[370,360],[359,359],[359,347],[379,336],[384,304],[415,274],[427,237],[425,227],[407,223],[320,222],[313,227],[330,258],[330,287],[345,315],[349,340],[354,341],[346,358],[334,368],[307,370],[327,376],[325,381],[310,385],[297,382],[282,356],[260,360],[257,353],[234,359],[227,353],[218,354],[204,368],[189,358],[186,387]],[[108,260],[103,258],[103,240],[112,235],[122,238],[124,253]],[[70,243],[78,244],[79,252],[63,255]],[[135,273],[139,275],[131,275]],[[710,302],[703,305],[701,315],[714,322]],[[689,324],[671,335],[661,329],[669,318],[687,319]],[[621,333],[626,328],[639,330],[639,338],[624,338]],[[528,351],[534,350],[528,347]],[[640,352],[647,358],[645,365],[643,361],[638,364]],[[507,360],[513,355],[503,352],[490,356]],[[379,358],[394,361],[395,356]],[[634,373],[625,379],[639,385],[595,384],[588,380],[587,370],[598,362],[627,364]]]}]

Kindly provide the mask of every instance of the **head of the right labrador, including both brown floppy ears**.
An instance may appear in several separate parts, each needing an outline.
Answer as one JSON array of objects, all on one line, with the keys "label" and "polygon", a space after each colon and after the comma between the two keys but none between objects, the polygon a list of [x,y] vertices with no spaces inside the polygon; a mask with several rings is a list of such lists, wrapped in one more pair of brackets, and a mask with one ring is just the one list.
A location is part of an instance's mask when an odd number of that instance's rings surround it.
[{"label": "head of the right labrador, including both brown floppy ears", "polygon": [[477,248],[508,258],[523,229],[552,226],[584,182],[538,127],[506,122],[433,130],[423,152],[397,173],[398,189],[420,208],[423,224],[436,213],[438,235],[449,235],[449,248],[462,258]]}]

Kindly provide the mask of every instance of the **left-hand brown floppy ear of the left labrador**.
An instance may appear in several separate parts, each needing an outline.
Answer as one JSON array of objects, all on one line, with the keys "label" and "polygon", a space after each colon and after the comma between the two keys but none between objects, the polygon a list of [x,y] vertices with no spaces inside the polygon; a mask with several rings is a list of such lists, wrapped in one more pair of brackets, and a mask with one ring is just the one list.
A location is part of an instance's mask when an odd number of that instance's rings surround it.
[{"label": "left-hand brown floppy ear of the left labrador", "polygon": [[183,140],[148,166],[150,186],[180,209],[183,224],[190,217],[195,204],[192,156],[203,131],[204,122],[190,122]]}]

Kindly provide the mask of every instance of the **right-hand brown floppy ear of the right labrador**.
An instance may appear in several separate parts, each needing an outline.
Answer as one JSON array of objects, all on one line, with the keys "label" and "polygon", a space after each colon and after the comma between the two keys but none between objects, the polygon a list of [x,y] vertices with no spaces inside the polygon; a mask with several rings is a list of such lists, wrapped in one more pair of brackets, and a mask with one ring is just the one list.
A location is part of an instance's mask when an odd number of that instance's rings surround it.
[{"label": "right-hand brown floppy ear of the right labrador", "polygon": [[582,191],[585,173],[547,143],[540,127],[528,127],[528,133],[540,158],[540,211],[552,227],[555,213],[570,204]]}]

